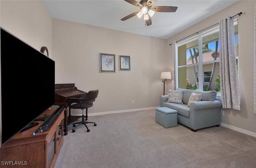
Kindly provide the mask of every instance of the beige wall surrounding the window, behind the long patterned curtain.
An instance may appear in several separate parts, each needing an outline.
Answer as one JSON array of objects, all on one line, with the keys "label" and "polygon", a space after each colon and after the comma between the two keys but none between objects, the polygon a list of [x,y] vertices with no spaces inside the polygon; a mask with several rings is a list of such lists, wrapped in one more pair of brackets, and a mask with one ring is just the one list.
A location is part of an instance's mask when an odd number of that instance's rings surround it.
[{"label": "beige wall surrounding the window, behind the long patterned curtain", "polygon": [[[178,33],[168,39],[168,43],[178,41],[188,35],[198,32],[206,27],[218,23],[227,16],[234,16],[243,12],[238,17],[238,78],[241,95],[241,111],[233,109],[223,109],[224,116],[221,115],[221,122],[227,127],[236,130],[247,130],[256,133],[256,115],[253,114],[253,33],[254,33],[254,5],[255,0],[240,0],[232,6],[210,16],[190,28]],[[172,53],[172,47],[168,53]],[[255,136],[255,135],[254,135]]]}]

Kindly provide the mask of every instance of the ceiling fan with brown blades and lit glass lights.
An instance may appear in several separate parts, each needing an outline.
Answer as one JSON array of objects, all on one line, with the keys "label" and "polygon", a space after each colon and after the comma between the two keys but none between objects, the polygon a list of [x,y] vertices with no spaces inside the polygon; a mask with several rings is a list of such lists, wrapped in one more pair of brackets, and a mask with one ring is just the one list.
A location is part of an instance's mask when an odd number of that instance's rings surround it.
[{"label": "ceiling fan with brown blades and lit glass lights", "polygon": [[138,6],[140,10],[134,12],[124,18],[122,21],[132,18],[133,16],[137,15],[138,18],[144,16],[144,20],[146,25],[149,26],[152,24],[151,17],[155,14],[155,12],[176,12],[176,6],[152,6],[156,0],[141,0],[140,3],[136,0],[124,0],[134,6]]}]

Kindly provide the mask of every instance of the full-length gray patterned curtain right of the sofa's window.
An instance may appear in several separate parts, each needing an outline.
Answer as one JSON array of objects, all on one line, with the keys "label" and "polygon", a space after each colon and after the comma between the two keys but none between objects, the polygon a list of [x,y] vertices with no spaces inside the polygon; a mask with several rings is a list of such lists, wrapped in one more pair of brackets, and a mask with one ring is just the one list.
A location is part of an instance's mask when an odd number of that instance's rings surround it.
[{"label": "full-length gray patterned curtain right of the sofa's window", "polygon": [[220,91],[222,108],[240,110],[234,21],[230,17],[220,20]]}]

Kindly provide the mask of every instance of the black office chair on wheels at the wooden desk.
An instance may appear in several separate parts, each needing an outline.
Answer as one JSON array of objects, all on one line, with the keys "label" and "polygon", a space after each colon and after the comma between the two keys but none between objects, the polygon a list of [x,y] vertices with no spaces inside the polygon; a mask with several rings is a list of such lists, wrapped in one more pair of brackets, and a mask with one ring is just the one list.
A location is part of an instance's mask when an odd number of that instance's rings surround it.
[{"label": "black office chair on wheels at the wooden desk", "polygon": [[[70,108],[72,109],[82,109],[83,110],[83,114],[82,114],[82,121],[78,122],[78,123],[73,123],[73,129],[72,129],[72,133],[76,132],[76,128],[81,125],[84,124],[85,127],[87,128],[87,132],[90,132],[90,129],[88,129],[87,125],[88,123],[94,123],[94,122],[88,122],[87,117],[88,117],[88,108],[92,107],[92,102],[95,101],[95,99],[97,98],[99,93],[99,90],[90,90],[86,96],[82,97],[82,98],[70,98],[70,101],[72,103],[72,105],[70,105]],[[73,104],[75,103],[75,104]],[[86,118],[84,118],[84,109],[86,109]],[[78,124],[78,125],[76,125]],[[94,123],[94,126],[96,126],[97,124]]]}]

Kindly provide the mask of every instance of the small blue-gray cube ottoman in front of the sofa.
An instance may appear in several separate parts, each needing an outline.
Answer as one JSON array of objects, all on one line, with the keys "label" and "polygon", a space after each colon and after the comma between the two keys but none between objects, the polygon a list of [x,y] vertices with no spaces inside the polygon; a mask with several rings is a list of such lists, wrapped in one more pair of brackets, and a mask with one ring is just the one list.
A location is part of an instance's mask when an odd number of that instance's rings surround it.
[{"label": "small blue-gray cube ottoman in front of the sofa", "polygon": [[168,107],[156,108],[156,123],[165,128],[176,127],[178,125],[177,111]]}]

